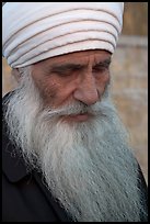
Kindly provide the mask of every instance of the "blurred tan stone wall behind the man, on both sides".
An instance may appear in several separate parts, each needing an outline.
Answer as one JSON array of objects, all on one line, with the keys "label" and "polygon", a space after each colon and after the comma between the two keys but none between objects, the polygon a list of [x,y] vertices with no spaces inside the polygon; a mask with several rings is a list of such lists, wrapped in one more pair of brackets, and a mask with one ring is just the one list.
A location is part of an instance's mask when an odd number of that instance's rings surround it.
[{"label": "blurred tan stone wall behind the man, on both sides", "polygon": [[[112,97],[148,182],[148,2],[125,2],[111,69]],[[14,88],[10,71],[2,58],[2,96]]]}]

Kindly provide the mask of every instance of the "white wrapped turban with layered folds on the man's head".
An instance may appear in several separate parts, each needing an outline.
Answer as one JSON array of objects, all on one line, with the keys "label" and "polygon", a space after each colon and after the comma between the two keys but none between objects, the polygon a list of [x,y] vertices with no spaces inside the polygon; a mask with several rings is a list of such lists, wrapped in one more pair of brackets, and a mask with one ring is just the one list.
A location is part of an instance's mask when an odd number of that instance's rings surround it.
[{"label": "white wrapped turban with layered folds on the man's head", "polygon": [[7,2],[2,54],[13,68],[79,51],[113,54],[123,11],[123,2]]}]

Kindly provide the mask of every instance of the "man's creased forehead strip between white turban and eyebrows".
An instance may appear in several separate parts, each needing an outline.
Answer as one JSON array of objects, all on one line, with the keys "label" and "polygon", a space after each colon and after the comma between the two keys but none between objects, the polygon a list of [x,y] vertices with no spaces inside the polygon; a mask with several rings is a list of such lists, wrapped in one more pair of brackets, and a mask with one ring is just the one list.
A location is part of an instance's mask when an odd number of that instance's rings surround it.
[{"label": "man's creased forehead strip between white turban and eyebrows", "polygon": [[111,57],[111,53],[103,51],[103,49],[93,49],[93,51],[83,51],[83,52],[76,52],[70,53],[61,56],[56,56],[53,58],[48,58],[45,60],[42,60],[39,63],[36,63],[36,66],[45,66],[45,65],[57,65],[57,64],[88,64],[88,63],[100,63],[101,60],[105,60]]}]

